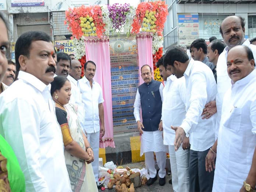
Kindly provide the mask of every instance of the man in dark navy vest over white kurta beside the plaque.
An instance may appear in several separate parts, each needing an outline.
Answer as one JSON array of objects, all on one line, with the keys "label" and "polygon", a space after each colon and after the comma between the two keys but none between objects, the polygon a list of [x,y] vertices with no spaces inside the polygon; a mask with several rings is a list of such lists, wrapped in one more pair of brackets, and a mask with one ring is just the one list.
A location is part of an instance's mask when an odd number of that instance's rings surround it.
[{"label": "man in dark navy vest over white kurta beside the plaque", "polygon": [[[137,90],[134,102],[134,117],[136,119],[139,132],[141,133],[141,156],[145,153],[145,165],[149,170],[150,179],[147,185],[152,185],[157,180],[154,152],[159,167],[159,185],[165,184],[166,175],[166,153],[168,147],[163,145],[162,131],[159,126],[162,111],[162,91],[163,84],[152,79],[152,70],[149,65],[141,67],[141,77],[144,83]],[[142,122],[140,118],[140,108],[142,109]]]}]

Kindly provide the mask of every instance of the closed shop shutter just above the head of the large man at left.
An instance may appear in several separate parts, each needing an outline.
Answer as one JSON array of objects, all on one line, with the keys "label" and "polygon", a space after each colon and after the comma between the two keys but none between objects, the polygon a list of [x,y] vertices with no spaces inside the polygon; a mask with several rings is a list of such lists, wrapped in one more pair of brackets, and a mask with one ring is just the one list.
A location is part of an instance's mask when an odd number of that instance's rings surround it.
[{"label": "closed shop shutter just above the head of the large man at left", "polygon": [[50,24],[42,24],[42,25],[17,25],[18,37],[21,36],[25,32],[29,31],[43,31],[46,32],[50,37],[51,33],[51,25]]}]

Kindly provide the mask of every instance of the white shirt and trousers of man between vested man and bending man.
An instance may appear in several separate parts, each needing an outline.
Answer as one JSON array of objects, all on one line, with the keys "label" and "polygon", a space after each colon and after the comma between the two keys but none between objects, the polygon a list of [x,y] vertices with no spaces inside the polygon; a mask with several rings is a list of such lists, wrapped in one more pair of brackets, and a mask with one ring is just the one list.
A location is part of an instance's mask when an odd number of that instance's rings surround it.
[{"label": "white shirt and trousers of man between vested man and bending man", "polygon": [[185,101],[185,78],[177,79],[175,75],[171,75],[167,78],[163,89],[162,123],[164,145],[169,146],[172,183],[175,192],[189,191],[189,138],[187,138],[186,146],[180,147],[175,152],[175,131],[171,129],[171,125],[179,126],[185,119]]}]

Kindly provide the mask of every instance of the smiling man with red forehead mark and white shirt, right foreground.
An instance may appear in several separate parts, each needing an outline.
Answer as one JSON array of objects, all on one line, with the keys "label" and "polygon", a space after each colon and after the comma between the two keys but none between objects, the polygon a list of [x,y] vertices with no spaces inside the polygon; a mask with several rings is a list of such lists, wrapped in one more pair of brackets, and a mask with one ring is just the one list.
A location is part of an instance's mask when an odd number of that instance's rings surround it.
[{"label": "smiling man with red forehead mark and white shirt, right foreground", "polygon": [[228,51],[227,73],[231,88],[223,99],[219,135],[206,156],[206,170],[215,168],[217,153],[213,191],[250,191],[256,186],[256,71],[247,46]]}]

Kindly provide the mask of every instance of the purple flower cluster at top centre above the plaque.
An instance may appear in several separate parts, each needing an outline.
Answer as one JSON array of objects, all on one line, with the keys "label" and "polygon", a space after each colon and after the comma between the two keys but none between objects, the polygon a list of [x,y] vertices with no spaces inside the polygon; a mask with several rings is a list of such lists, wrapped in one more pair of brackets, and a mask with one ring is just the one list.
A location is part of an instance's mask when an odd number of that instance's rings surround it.
[{"label": "purple flower cluster at top centre above the plaque", "polygon": [[107,8],[109,9],[109,18],[113,24],[113,32],[122,31],[126,22],[126,15],[130,11],[129,4],[114,3],[108,5]]}]

